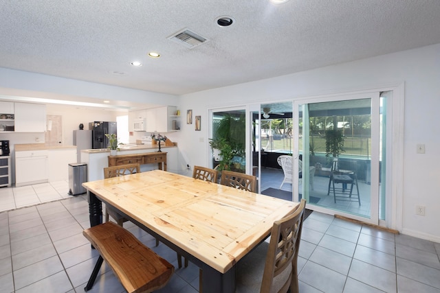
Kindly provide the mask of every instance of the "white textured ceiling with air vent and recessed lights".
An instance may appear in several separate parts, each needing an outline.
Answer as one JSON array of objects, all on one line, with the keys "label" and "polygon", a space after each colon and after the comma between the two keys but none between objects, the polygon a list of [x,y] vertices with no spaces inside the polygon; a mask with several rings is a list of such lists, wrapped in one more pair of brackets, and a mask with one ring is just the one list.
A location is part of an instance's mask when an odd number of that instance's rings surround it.
[{"label": "white textured ceiling with air vent and recessed lights", "polygon": [[[182,95],[440,43],[439,16],[438,0],[1,0],[0,67]],[[209,41],[168,40],[184,28]]]}]

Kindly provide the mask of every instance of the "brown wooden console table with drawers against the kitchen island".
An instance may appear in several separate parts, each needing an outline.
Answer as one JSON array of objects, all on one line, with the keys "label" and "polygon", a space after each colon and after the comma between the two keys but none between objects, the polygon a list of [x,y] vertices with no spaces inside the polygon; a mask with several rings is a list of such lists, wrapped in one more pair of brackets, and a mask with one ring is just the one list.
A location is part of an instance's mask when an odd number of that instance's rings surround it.
[{"label": "brown wooden console table with drawers against the kitchen island", "polygon": [[109,156],[109,167],[126,164],[154,164],[166,171],[166,152],[145,152],[143,154],[121,154]]}]

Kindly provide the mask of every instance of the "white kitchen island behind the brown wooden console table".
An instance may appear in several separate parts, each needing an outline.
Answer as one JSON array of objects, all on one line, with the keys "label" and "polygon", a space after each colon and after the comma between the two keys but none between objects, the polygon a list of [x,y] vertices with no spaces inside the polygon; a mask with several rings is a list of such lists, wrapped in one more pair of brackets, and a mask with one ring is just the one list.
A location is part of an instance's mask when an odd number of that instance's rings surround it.
[{"label": "white kitchen island behind the brown wooden console table", "polygon": [[[166,162],[170,172],[175,172],[178,168],[178,149],[176,145],[162,146],[162,151],[166,152]],[[131,154],[146,154],[157,152],[157,145],[124,145],[118,150],[116,156],[131,155]],[[104,179],[104,167],[109,167],[110,150],[96,149],[96,150],[82,150],[81,162],[87,163],[87,181],[94,181]],[[142,164],[142,162],[141,162]],[[141,166],[141,172],[151,171],[157,169],[158,165],[147,162]]]}]

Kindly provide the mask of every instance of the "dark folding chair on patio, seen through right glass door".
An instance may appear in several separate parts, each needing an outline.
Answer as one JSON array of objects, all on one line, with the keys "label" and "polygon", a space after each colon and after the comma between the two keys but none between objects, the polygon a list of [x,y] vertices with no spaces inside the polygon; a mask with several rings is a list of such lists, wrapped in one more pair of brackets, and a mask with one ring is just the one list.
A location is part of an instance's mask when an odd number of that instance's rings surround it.
[{"label": "dark folding chair on patio, seen through right glass door", "polygon": [[[327,191],[327,196],[330,194],[330,189],[333,187],[333,200],[349,201],[349,202],[359,202],[360,205],[360,194],[358,186],[358,176],[356,176],[356,161],[349,162],[350,167],[347,169],[340,168],[340,162],[338,163],[338,158],[333,159],[330,169],[330,179],[329,179],[329,189]],[[341,184],[340,187],[335,185]],[[348,189],[350,185],[350,189]],[[355,198],[353,198],[353,187],[356,186]]]}]

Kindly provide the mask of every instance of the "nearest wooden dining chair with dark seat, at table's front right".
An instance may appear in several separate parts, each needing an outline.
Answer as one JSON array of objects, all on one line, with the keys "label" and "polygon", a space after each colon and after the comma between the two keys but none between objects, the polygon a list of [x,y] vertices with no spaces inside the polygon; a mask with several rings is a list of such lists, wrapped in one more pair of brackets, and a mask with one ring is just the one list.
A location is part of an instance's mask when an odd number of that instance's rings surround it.
[{"label": "nearest wooden dining chair with dark seat, at table's front right", "polygon": [[236,291],[298,292],[298,250],[305,199],[287,217],[275,221],[270,243],[263,242],[236,264]]}]

